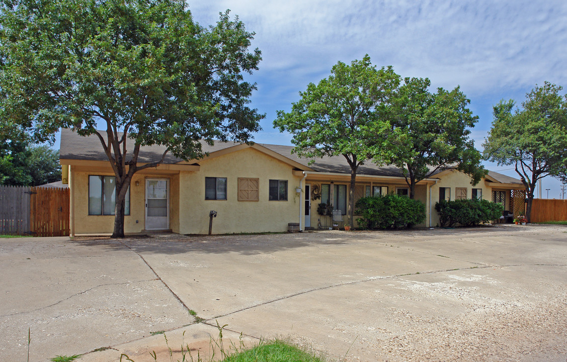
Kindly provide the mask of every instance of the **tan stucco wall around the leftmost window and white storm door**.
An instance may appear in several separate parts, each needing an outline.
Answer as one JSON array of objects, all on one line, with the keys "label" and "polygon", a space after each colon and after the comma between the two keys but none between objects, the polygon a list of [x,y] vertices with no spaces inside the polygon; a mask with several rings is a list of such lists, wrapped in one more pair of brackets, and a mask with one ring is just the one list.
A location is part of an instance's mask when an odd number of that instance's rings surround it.
[{"label": "tan stucco wall around the leftmost window and white storm door", "polygon": [[[112,172],[85,171],[81,167],[71,168],[71,193],[73,197],[71,218],[74,235],[112,233],[114,228],[114,215],[88,215],[88,176],[114,176]],[[124,232],[138,233],[145,229],[145,179],[167,178],[170,180],[170,228],[179,229],[179,176],[167,174],[134,174],[130,183],[130,215],[124,216]],[[136,185],[138,181],[138,185]]]}]

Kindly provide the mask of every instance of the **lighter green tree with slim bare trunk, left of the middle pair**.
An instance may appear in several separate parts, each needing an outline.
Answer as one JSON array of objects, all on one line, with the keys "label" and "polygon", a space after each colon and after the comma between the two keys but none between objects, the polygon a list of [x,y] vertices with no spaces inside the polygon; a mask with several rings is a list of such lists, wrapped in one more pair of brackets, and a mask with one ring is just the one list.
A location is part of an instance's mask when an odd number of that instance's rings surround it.
[{"label": "lighter green tree with slim bare trunk, left of the middle pair", "polygon": [[[377,69],[366,55],[350,65],[338,62],[331,75],[307,90],[291,112],[279,110],[274,126],[293,135],[301,157],[344,156],[350,166],[348,223],[353,224],[354,184],[365,161],[391,156],[388,122],[392,92],[400,79],[392,67]],[[313,160],[311,160],[313,162]]]}]

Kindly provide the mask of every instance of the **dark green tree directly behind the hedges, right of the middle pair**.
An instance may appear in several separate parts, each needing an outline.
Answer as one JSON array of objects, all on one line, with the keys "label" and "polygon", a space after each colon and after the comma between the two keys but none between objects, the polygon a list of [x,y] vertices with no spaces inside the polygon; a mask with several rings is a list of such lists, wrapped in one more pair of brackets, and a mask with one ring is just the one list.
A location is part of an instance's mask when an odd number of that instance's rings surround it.
[{"label": "dark green tree directly behind the hedges, right of the middle pair", "polygon": [[[428,78],[405,78],[396,95],[393,125],[403,134],[388,163],[399,167],[414,198],[417,182],[439,170],[458,169],[476,185],[486,174],[481,154],[469,137],[478,117],[459,87],[431,93]],[[380,160],[382,162],[382,160]]]}]

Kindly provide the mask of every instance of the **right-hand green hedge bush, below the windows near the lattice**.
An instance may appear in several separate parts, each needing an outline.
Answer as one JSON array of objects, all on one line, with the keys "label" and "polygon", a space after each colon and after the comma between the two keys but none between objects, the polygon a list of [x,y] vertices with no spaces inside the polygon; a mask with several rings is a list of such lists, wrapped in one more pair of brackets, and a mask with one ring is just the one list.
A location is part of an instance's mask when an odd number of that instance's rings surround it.
[{"label": "right-hand green hedge bush, below the windows near the lattice", "polygon": [[482,199],[462,199],[436,202],[435,210],[439,214],[439,226],[452,227],[455,224],[473,226],[498,219],[504,207]]}]

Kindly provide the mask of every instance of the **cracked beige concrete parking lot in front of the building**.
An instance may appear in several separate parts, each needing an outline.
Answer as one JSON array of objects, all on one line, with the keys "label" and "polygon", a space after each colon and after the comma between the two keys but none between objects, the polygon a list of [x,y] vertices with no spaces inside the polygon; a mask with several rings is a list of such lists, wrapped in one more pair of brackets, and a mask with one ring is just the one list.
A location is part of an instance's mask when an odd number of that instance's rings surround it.
[{"label": "cracked beige concrete parking lot in front of the building", "polygon": [[28,327],[30,361],[143,362],[217,323],[331,361],[567,360],[567,227],[0,239],[0,265],[6,361]]}]

